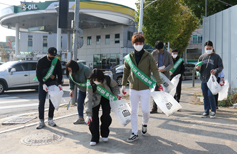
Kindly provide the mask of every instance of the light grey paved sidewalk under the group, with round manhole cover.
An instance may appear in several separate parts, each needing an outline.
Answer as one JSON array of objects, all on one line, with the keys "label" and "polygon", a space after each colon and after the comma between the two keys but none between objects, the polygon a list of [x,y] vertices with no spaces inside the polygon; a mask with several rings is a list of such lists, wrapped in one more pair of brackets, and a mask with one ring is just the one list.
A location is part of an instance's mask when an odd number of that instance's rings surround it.
[{"label": "light grey paved sidewalk under the group, with round manhole cover", "polygon": [[[140,133],[142,113],[139,109],[139,140],[134,143],[126,142],[131,134],[131,124],[123,127],[111,113],[113,122],[109,142],[100,142],[91,147],[88,126],[72,124],[77,119],[76,107],[70,107],[69,111],[66,107],[60,107],[59,111],[55,111],[57,114],[67,111],[66,114],[70,116],[55,120],[57,127],[50,127],[46,123],[47,127],[42,130],[36,130],[36,125],[32,125],[0,134],[0,153],[237,153],[237,110],[220,107],[216,119],[200,118],[203,105],[195,105],[200,104],[195,96],[197,92],[200,92],[200,87],[183,89],[181,112],[170,117],[163,113],[151,114],[146,136]],[[129,102],[128,98],[126,101]],[[63,139],[41,146],[27,146],[21,143],[22,138],[39,133],[59,134]]]}]

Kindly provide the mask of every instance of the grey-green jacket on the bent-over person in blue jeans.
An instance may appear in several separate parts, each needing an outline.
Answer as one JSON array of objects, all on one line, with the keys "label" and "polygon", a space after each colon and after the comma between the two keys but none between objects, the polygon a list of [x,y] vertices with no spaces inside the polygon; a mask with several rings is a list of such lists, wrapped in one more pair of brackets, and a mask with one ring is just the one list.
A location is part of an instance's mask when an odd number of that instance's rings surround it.
[{"label": "grey-green jacket on the bent-over person in blue jeans", "polygon": [[[91,73],[91,69],[87,66],[85,66],[83,63],[78,62],[78,66],[79,66],[79,71],[76,74],[72,75],[72,78],[75,82],[77,83],[86,83],[87,78],[89,77],[90,73]],[[69,85],[70,85],[70,89],[73,90],[75,83],[70,79],[69,77]],[[80,89],[80,91],[82,92],[86,92],[86,87],[81,87],[78,86],[76,84],[76,86]]]}]

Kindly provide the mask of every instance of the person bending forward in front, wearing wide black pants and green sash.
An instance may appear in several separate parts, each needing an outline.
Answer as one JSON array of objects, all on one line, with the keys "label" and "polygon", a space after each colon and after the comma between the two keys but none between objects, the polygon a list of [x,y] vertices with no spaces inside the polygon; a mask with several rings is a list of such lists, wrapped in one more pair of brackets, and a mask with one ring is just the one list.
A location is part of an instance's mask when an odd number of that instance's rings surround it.
[{"label": "person bending forward in front, wearing wide black pants and green sash", "polygon": [[[109,99],[112,97],[111,94],[118,100],[121,99],[121,96],[119,95],[117,82],[109,76],[105,76],[101,70],[93,69],[87,82],[85,101],[87,117],[85,122],[89,125],[92,135],[90,145],[94,146],[99,143],[100,133],[102,141],[108,142],[109,126],[112,122]],[[99,127],[100,106],[102,107],[102,116],[100,117],[101,127]]]}]

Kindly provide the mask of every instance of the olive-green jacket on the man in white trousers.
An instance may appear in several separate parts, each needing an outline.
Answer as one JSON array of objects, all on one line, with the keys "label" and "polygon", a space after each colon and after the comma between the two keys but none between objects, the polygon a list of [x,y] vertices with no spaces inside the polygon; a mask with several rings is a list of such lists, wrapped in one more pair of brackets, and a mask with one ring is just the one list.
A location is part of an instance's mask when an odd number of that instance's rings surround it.
[{"label": "olive-green jacket on the man in white trousers", "polygon": [[[138,65],[137,65],[136,58],[135,58],[135,51],[130,53],[130,57],[131,57],[133,64],[136,65],[139,70],[141,70],[148,77],[151,76],[151,72],[152,72],[154,78],[157,81],[157,85],[162,84],[156,63],[155,63],[152,55],[149,52],[144,50],[144,53],[142,54],[142,57],[141,57]],[[133,71],[131,70],[128,63],[125,61],[124,62],[122,85],[126,86],[127,81],[129,81],[130,89],[134,89],[134,90],[149,89],[149,87],[144,82],[142,82],[139,78],[136,77],[136,75],[133,73]]]}]

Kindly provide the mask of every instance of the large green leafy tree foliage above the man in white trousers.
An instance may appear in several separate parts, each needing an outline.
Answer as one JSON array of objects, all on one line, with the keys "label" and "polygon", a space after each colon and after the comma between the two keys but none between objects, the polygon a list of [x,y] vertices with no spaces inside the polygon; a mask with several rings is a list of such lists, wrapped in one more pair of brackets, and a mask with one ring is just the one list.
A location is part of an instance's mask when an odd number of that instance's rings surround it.
[{"label": "large green leafy tree foliage above the man in white trousers", "polygon": [[[152,1],[146,0],[145,4]],[[170,42],[171,48],[177,48],[180,55],[185,51],[192,32],[199,26],[199,20],[183,4],[181,0],[158,0],[144,9],[142,30],[146,44],[154,46],[159,40]],[[136,5],[136,21],[139,22],[140,3]]]}]

